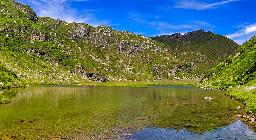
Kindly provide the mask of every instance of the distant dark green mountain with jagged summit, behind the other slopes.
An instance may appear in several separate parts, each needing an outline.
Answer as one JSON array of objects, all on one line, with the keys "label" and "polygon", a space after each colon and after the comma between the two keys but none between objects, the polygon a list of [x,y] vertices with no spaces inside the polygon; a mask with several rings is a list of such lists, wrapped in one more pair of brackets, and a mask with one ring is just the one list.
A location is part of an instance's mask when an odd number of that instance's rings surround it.
[{"label": "distant dark green mountain with jagged summit, behind the other slopes", "polygon": [[240,45],[233,40],[212,32],[198,30],[181,35],[160,35],[150,37],[151,39],[168,45],[175,53],[194,52],[202,53],[208,57],[213,64],[219,59],[225,60]]}]

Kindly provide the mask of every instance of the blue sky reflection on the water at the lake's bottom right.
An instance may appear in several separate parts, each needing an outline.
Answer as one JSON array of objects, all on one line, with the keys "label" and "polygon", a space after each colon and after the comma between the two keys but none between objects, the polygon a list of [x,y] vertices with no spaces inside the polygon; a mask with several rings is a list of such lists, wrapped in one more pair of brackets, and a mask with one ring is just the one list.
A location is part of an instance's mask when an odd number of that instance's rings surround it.
[{"label": "blue sky reflection on the water at the lake's bottom right", "polygon": [[237,119],[226,127],[215,129],[212,132],[193,133],[188,130],[147,128],[133,133],[134,139],[253,139],[256,137],[254,130],[244,125]]}]

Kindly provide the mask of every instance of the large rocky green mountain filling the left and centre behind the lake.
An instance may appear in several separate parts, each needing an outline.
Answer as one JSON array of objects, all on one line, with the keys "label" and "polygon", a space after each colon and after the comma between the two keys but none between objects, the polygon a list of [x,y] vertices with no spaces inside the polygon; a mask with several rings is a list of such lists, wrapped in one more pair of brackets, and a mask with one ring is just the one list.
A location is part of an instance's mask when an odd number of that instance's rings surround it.
[{"label": "large rocky green mountain filling the left and centre behind the lake", "polygon": [[200,77],[149,37],[37,17],[13,0],[1,0],[0,11],[1,62],[27,84]]}]

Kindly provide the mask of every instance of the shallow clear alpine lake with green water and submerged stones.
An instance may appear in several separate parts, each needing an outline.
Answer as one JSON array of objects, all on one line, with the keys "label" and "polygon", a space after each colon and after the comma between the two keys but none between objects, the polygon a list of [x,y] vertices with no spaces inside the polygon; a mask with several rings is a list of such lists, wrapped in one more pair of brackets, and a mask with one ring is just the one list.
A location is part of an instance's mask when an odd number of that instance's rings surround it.
[{"label": "shallow clear alpine lake with green water and submerged stones", "polygon": [[[194,86],[1,89],[0,139],[256,139],[224,90]],[[208,100],[204,97],[212,97]]]}]

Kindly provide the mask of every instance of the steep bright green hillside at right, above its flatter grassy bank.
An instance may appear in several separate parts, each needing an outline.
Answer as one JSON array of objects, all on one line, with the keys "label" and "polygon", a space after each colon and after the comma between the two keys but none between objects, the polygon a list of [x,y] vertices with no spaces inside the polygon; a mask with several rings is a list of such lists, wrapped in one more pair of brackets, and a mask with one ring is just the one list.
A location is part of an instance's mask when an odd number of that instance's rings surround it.
[{"label": "steep bright green hillside at right, above its flatter grassy bank", "polygon": [[256,35],[225,61],[210,69],[202,78],[203,87],[229,89],[239,85],[255,85]]}]

